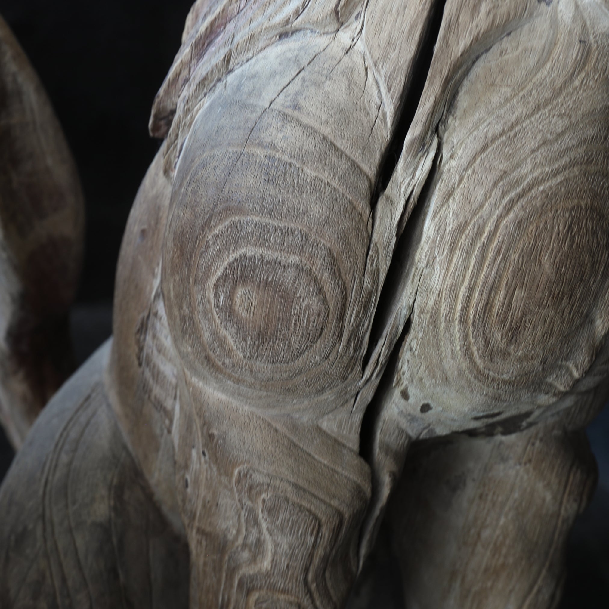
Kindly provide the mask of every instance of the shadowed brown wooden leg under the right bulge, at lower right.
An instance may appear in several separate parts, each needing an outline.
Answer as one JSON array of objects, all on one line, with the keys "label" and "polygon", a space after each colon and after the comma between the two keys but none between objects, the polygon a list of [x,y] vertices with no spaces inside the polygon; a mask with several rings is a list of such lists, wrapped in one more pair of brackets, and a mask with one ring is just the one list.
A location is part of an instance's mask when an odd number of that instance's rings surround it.
[{"label": "shadowed brown wooden leg under the right bulge, at lower right", "polygon": [[558,426],[415,445],[389,506],[409,609],[557,606],[596,464]]}]

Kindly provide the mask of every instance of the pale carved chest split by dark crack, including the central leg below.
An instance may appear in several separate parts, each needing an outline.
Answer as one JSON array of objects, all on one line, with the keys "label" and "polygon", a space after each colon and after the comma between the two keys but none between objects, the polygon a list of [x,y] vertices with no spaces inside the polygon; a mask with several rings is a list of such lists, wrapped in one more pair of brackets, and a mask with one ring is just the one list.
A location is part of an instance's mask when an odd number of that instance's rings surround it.
[{"label": "pale carved chest split by dark crack, including the central leg below", "polygon": [[410,438],[602,403],[606,13],[197,2],[153,107],[167,141],[108,376],[184,523],[193,603],[340,605]]}]

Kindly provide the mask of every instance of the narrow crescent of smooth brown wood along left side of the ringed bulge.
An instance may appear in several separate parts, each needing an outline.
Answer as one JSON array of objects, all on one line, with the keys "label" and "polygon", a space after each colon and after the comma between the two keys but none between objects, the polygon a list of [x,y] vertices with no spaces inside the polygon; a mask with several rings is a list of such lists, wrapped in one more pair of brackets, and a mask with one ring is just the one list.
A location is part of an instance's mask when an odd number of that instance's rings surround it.
[{"label": "narrow crescent of smooth brown wood along left side of the ringed bulge", "polygon": [[164,146],[142,181],[127,221],[116,275],[113,343],[105,387],[164,516],[182,527],[175,497],[174,411],[179,361],[161,295],[161,246],[171,185]]}]

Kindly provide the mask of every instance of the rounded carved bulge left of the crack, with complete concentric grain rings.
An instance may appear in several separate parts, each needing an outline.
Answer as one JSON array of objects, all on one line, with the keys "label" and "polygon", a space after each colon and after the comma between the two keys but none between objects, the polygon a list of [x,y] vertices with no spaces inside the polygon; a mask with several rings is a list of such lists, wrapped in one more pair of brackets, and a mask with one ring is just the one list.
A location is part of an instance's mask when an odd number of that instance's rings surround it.
[{"label": "rounded carved bulge left of the crack, with complete concentric grain rings", "polygon": [[[174,180],[163,264],[172,334],[200,378],[245,388],[250,403],[328,400],[359,374],[387,124],[373,81],[350,90],[365,66],[343,45],[287,41],[228,76],[197,116]],[[315,122],[321,99],[326,119]],[[349,138],[337,125],[356,116],[370,127]]]}]

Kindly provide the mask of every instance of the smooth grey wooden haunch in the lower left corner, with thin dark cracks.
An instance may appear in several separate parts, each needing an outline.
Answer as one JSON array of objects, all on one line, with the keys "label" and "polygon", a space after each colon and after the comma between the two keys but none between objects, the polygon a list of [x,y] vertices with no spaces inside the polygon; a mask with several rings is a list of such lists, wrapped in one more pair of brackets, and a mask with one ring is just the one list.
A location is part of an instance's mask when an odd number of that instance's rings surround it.
[{"label": "smooth grey wooden haunch in the lower left corner, with thin dark cracks", "polygon": [[108,343],[44,409],[0,491],[0,607],[188,607],[188,547],[108,406]]}]

